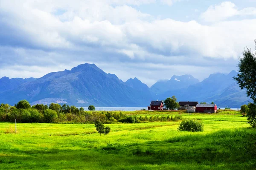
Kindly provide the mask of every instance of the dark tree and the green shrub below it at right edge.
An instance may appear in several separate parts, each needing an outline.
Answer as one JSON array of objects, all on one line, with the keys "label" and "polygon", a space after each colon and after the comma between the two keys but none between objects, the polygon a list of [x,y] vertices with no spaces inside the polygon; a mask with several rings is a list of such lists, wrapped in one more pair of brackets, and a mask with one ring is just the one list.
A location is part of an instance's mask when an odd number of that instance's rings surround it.
[{"label": "dark tree and the green shrub below it at right edge", "polygon": [[[255,41],[256,50],[256,41]],[[247,107],[241,107],[243,113],[247,112],[247,121],[256,127],[256,54],[251,49],[244,49],[243,56],[239,58],[239,74],[234,79],[241,89],[246,89],[247,96],[253,100]]]}]

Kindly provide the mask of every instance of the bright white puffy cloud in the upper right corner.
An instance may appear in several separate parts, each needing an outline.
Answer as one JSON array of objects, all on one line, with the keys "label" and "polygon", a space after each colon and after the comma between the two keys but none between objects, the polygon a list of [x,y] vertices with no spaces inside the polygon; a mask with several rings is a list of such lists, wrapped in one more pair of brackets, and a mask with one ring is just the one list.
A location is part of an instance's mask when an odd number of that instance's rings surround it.
[{"label": "bright white puffy cloud in the upper right corner", "polygon": [[219,5],[210,6],[207,11],[201,14],[201,18],[207,22],[218,22],[234,16],[256,16],[256,8],[243,8],[241,10],[230,2],[223,2]]}]

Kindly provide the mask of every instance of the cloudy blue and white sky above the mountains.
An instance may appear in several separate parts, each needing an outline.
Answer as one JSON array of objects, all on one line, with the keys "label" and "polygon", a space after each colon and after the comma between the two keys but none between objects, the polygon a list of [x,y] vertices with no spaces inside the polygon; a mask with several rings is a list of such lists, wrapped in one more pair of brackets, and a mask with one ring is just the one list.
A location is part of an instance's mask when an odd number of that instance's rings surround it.
[{"label": "cloudy blue and white sky above the mountains", "polygon": [[256,0],[0,0],[0,77],[94,63],[149,87],[237,70],[254,51]]}]

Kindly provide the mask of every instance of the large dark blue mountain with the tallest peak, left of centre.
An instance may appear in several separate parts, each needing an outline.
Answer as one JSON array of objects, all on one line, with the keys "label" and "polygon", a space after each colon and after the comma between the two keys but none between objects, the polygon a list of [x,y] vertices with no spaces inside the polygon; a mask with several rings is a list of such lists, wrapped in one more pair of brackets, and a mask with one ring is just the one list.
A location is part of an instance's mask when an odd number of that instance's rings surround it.
[{"label": "large dark blue mountain with the tallest peak, left of centre", "polygon": [[78,65],[70,71],[49,73],[1,95],[6,103],[27,99],[32,104],[50,102],[86,106],[144,106],[148,100],[113,74],[94,64]]}]

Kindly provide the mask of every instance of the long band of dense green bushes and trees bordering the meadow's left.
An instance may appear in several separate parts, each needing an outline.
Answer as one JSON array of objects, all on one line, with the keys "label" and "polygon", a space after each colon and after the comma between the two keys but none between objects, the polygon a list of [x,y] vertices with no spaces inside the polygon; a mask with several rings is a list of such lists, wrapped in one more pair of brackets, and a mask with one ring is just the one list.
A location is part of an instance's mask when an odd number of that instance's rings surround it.
[{"label": "long band of dense green bushes and trees bordering the meadow's left", "polygon": [[116,122],[122,123],[140,123],[140,122],[167,122],[178,121],[181,116],[150,116],[137,117],[127,116],[120,113],[112,112],[87,112],[84,108],[76,108],[75,106],[59,105],[51,103],[49,106],[43,104],[31,105],[28,101],[22,100],[15,106],[8,104],[0,105],[0,122],[17,122],[21,123],[94,123],[100,121],[104,124]]}]

